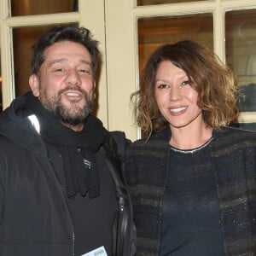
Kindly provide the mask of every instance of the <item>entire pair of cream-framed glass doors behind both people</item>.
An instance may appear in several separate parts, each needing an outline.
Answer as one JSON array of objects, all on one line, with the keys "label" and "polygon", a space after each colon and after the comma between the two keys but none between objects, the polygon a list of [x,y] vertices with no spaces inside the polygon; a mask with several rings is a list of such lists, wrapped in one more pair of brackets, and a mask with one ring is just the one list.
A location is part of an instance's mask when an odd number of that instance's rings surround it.
[{"label": "entire pair of cream-framed glass doors behind both people", "polygon": [[0,1],[3,108],[28,89],[35,38],[49,26],[73,24],[88,27],[100,41],[95,113],[110,131],[141,137],[130,106],[139,72],[156,47],[183,38],[206,44],[230,66],[245,94],[239,122],[256,131],[255,0],[64,2]]}]

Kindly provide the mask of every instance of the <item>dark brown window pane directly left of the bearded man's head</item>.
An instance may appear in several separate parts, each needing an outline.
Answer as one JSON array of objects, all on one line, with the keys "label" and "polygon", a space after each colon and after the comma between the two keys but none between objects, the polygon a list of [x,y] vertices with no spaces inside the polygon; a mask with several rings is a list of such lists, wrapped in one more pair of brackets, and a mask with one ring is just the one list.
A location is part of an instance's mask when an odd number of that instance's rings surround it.
[{"label": "dark brown window pane directly left of the bearded man's head", "polygon": [[30,90],[28,79],[31,75],[32,44],[53,26],[32,26],[13,29],[15,96],[20,96]]}]

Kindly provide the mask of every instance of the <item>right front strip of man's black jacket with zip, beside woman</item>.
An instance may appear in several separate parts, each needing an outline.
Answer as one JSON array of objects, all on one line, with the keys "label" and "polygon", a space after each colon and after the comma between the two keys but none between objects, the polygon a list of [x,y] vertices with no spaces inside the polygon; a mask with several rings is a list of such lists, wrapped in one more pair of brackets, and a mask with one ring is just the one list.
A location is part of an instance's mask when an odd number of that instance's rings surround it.
[{"label": "right front strip of man's black jacket with zip, beside woman", "polygon": [[132,205],[129,191],[124,179],[123,158],[129,140],[125,138],[124,132],[110,132],[111,136],[106,139],[103,154],[107,155],[106,164],[113,177],[117,198],[119,202],[119,213],[115,224],[114,251],[116,255],[131,256],[136,253],[136,227],[132,218]]}]

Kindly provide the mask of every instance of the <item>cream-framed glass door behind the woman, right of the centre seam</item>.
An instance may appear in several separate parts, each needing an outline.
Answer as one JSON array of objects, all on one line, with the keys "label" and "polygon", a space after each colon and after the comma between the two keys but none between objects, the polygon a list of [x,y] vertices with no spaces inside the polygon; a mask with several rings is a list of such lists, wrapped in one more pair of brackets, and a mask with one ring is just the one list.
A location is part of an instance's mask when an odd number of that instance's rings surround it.
[{"label": "cream-framed glass door behind the woman, right of the centre seam", "polygon": [[[129,3],[130,2],[130,3]],[[141,136],[133,125],[131,93],[148,55],[160,44],[190,38],[212,48],[245,92],[241,128],[256,131],[256,3],[254,0],[106,0],[110,127]],[[114,96],[116,93],[117,96]]]}]

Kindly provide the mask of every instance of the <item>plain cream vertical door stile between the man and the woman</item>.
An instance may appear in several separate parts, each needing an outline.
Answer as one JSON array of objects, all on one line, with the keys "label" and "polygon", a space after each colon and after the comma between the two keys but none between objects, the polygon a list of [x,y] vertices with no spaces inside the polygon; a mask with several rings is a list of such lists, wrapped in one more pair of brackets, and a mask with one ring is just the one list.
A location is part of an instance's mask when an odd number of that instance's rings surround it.
[{"label": "plain cream vertical door stile between the man and the woman", "polygon": [[131,92],[137,89],[137,43],[132,1],[106,1],[106,46],[109,130],[125,131],[137,138],[130,108]]}]

